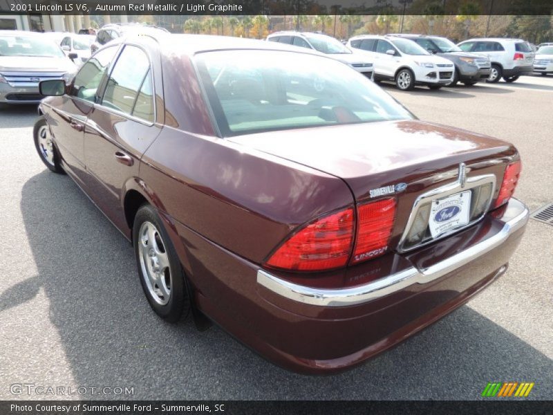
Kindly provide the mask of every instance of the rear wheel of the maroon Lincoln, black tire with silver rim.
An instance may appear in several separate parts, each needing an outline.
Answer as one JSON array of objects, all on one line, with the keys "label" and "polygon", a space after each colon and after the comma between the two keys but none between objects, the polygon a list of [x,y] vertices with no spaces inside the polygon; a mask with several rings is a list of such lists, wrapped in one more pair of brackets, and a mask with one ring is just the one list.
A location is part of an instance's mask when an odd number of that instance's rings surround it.
[{"label": "rear wheel of the maroon Lincoln, black tire with silver rim", "polygon": [[167,322],[184,320],[190,311],[185,274],[162,220],[151,205],[142,205],[133,224],[138,276],[153,311]]}]

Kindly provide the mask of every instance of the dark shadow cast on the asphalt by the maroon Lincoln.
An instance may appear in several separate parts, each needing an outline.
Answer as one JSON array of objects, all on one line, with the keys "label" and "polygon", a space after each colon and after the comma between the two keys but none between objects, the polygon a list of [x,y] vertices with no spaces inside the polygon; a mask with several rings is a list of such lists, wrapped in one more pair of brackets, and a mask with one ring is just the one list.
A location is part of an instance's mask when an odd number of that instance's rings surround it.
[{"label": "dark shadow cast on the asphalt by the maroon Lincoln", "polygon": [[134,387],[135,399],[477,399],[487,382],[523,380],[536,382],[529,398],[550,398],[552,361],[468,306],[352,371],[292,374],[221,329],[158,319],[129,242],[67,176],[30,178],[21,212],[39,275],[2,301],[44,287],[77,385]]}]

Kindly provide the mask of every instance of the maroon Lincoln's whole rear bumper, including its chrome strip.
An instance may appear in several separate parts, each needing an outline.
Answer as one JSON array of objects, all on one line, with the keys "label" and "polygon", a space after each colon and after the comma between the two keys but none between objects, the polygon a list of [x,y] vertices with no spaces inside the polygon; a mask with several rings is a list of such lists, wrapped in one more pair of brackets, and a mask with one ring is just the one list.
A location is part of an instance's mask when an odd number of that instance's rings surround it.
[{"label": "maroon Lincoln's whole rear bumper, including its chrome strip", "polygon": [[296,279],[179,233],[195,247],[191,268],[202,270],[191,275],[201,311],[278,365],[328,374],[402,342],[505,273],[527,220],[525,205],[511,199],[419,250]]}]

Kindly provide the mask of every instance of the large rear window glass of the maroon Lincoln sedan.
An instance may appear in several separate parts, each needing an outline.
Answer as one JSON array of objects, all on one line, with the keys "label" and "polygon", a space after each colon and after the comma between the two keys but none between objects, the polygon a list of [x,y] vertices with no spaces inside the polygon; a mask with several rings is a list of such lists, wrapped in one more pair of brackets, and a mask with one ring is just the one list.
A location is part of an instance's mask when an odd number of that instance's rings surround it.
[{"label": "large rear window glass of the maroon Lincoln sedan", "polygon": [[200,53],[223,136],[413,118],[364,75],[325,57],[274,50]]}]

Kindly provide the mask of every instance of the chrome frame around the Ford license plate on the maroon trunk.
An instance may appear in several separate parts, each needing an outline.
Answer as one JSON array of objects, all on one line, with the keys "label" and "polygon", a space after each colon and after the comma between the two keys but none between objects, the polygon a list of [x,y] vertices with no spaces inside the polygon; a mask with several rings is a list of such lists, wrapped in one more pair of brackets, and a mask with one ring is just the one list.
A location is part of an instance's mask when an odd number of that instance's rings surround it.
[{"label": "chrome frame around the Ford license plate on the maroon trunk", "polygon": [[[480,220],[482,220],[486,212],[489,210],[489,205],[491,204],[491,200],[493,199],[494,192],[496,191],[496,176],[495,174],[482,174],[481,176],[466,177],[465,174],[461,174],[461,171],[465,168],[466,167],[464,163],[461,163],[459,167],[459,177],[456,182],[448,183],[447,185],[436,187],[435,189],[430,190],[429,192],[423,193],[420,196],[418,196],[418,198],[415,200],[415,203],[413,203],[413,208],[411,209],[411,214],[409,215],[409,220],[407,221],[407,224],[405,226],[405,230],[400,239],[400,243],[398,243],[397,245],[397,252],[400,252],[400,253],[409,252],[411,250],[421,248],[422,246],[427,246],[429,243],[433,243],[435,241],[439,241],[440,239],[444,239],[445,237],[448,237],[449,235],[455,232],[459,232],[460,230],[468,228],[469,226],[474,225],[475,223],[478,223]],[[469,168],[467,168],[467,171],[468,170]],[[456,194],[464,190],[471,190],[471,189],[474,189],[475,187],[486,185],[488,183],[491,183],[491,197],[486,205],[486,208],[482,211],[482,214],[478,216],[478,218],[474,219],[473,221],[469,221],[469,223],[467,223],[467,225],[465,226],[449,230],[449,232],[445,232],[444,234],[441,234],[439,237],[430,239],[429,241],[424,241],[411,248],[406,248],[406,249],[403,248],[404,243],[406,242],[406,239],[407,239],[407,235],[409,235],[409,232],[411,231],[411,227],[413,226],[413,222],[415,221],[415,218],[422,205],[431,203],[436,199],[443,199],[444,197],[451,196],[452,194]]]}]

